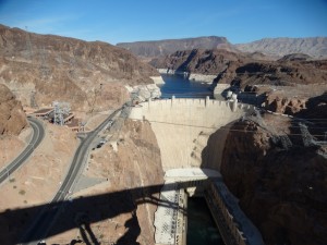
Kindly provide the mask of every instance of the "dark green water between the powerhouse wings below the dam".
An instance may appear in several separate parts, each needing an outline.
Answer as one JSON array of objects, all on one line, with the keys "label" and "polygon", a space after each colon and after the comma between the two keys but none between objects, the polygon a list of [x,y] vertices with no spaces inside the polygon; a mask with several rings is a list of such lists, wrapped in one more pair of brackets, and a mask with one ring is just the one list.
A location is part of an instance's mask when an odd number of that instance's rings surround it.
[{"label": "dark green water between the powerhouse wings below the dam", "polygon": [[187,200],[187,245],[225,245],[204,198]]}]

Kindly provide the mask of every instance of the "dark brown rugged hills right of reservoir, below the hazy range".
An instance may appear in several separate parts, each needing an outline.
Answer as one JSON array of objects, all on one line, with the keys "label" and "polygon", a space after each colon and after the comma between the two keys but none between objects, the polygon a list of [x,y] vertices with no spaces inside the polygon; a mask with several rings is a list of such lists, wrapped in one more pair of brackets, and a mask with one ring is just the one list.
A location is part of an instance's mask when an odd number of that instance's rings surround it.
[{"label": "dark brown rugged hills right of reservoir, below the hazy range", "polygon": [[[235,53],[222,49],[177,51],[165,58],[154,59],[157,69],[177,73],[216,75],[216,82],[238,85],[326,84],[327,61],[311,60],[305,54],[286,56],[278,61],[256,59],[257,53]],[[308,59],[308,60],[307,60]]]}]

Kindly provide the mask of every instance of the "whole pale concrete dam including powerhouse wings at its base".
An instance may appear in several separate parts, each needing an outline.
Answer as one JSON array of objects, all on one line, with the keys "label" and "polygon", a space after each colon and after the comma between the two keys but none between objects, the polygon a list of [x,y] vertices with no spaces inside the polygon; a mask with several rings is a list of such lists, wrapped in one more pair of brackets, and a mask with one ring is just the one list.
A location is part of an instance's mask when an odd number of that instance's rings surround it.
[{"label": "whole pale concrete dam including powerhouse wings at its base", "polygon": [[[217,130],[247,113],[254,107],[230,101],[174,98],[149,100],[132,108],[130,119],[147,120],[155,132],[160,148],[165,185],[155,215],[156,244],[186,244],[187,198],[203,196],[211,211],[221,237],[227,245],[264,244],[257,229],[238,206],[220,175],[220,162],[215,169],[202,167],[202,151],[208,137]],[[226,137],[225,135],[225,137]],[[221,160],[223,145],[216,155]],[[168,204],[168,206],[167,206]]]}]

